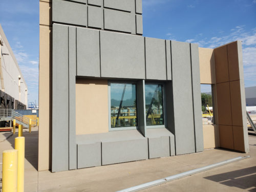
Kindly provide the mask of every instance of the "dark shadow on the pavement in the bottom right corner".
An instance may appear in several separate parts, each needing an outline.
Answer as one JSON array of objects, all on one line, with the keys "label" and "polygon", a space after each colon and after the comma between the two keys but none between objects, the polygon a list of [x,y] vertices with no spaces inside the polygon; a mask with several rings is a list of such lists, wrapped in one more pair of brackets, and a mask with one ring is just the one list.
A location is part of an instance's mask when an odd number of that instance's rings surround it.
[{"label": "dark shadow on the pavement in the bottom right corner", "polygon": [[223,185],[256,191],[256,166],[204,178]]}]

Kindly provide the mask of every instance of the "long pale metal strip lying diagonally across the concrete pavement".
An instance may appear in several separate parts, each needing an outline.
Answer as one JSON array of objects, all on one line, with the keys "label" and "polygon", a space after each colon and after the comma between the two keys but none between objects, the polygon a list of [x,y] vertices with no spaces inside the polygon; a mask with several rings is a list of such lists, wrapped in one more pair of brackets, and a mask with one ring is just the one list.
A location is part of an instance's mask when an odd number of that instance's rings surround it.
[{"label": "long pale metal strip lying diagonally across the concrete pavement", "polygon": [[169,181],[173,181],[173,180],[176,180],[176,179],[180,179],[180,178],[183,178],[183,177],[186,177],[186,176],[194,175],[194,174],[197,174],[197,173],[200,173],[200,172],[204,172],[205,170],[209,170],[209,169],[212,169],[212,168],[216,168],[216,167],[228,164],[228,163],[232,163],[232,162],[235,162],[235,161],[240,161],[242,159],[247,159],[247,158],[250,158],[250,156],[243,156],[243,157],[240,156],[240,157],[228,159],[228,160],[225,160],[225,161],[221,161],[219,163],[215,163],[215,164],[207,165],[207,166],[204,166],[204,167],[201,167],[201,168],[196,168],[196,169],[193,169],[193,170],[189,170],[187,172],[183,172],[183,173],[180,173],[180,174],[177,174],[177,175],[165,177],[165,178],[158,179],[158,180],[155,180],[155,181],[151,181],[151,182],[148,182],[148,183],[143,183],[141,185],[137,185],[137,186],[133,186],[133,187],[130,187],[130,188],[122,189],[122,190],[119,190],[117,192],[131,192],[131,191],[142,190],[142,189],[145,189],[145,188],[150,188],[150,187],[153,187],[153,186],[156,186],[156,185],[160,185],[160,184],[163,184],[163,183],[166,183],[166,182],[169,182]]}]

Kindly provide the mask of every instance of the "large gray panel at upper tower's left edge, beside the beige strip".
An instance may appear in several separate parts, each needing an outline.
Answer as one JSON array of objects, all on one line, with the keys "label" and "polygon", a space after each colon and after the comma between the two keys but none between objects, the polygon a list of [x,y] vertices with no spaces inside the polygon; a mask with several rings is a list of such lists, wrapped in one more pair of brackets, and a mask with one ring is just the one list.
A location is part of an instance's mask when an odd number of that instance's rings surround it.
[{"label": "large gray panel at upper tower's left edge, beside the beige strip", "polygon": [[53,0],[52,21],[87,26],[87,5],[62,0]]}]

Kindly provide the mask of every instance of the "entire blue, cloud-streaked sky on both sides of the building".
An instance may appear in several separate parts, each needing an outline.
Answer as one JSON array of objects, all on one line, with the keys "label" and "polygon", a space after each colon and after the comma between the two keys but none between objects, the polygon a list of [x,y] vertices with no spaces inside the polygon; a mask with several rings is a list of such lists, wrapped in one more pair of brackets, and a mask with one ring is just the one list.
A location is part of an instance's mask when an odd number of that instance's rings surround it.
[{"label": "entire blue, cloud-streaked sky on both sides of the building", "polygon": [[[215,48],[243,40],[245,87],[256,86],[256,0],[142,0],[143,36]],[[1,0],[0,23],[38,103],[39,1]],[[203,90],[208,92],[208,88]]]}]

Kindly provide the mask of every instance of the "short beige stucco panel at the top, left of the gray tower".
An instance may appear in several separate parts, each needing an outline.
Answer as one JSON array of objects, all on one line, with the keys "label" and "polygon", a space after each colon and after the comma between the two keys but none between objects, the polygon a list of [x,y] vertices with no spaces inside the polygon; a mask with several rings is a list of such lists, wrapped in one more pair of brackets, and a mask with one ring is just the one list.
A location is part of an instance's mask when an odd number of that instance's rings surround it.
[{"label": "short beige stucco panel at the top, left of the gray tower", "polygon": [[39,24],[50,26],[52,24],[52,4],[47,2],[39,2]]}]

